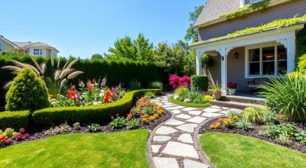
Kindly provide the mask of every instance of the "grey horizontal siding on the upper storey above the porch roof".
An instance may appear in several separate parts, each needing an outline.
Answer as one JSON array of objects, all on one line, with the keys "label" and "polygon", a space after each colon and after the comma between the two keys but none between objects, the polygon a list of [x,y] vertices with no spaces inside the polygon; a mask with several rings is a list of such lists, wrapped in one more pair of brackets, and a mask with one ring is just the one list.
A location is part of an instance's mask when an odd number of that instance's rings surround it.
[{"label": "grey horizontal siding on the upper storey above the porch roof", "polygon": [[266,24],[272,20],[291,18],[299,14],[306,14],[305,0],[292,0],[269,7],[265,12],[252,12],[243,19],[232,19],[231,21],[222,21],[216,24],[208,25],[199,29],[199,40],[208,40],[214,37],[220,37],[233,33],[237,30],[243,30],[247,27],[257,27]]}]

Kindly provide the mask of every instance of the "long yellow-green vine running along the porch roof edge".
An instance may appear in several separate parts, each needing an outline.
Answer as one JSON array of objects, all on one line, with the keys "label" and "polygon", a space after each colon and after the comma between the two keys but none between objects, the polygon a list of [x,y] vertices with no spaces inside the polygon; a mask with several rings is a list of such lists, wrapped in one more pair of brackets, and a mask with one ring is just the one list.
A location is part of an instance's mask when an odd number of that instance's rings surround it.
[{"label": "long yellow-green vine running along the porch roof edge", "polygon": [[233,33],[229,33],[225,36],[221,36],[221,37],[217,37],[217,38],[211,38],[211,39],[205,40],[205,41],[195,42],[195,43],[192,43],[192,45],[200,44],[200,43],[208,42],[208,41],[209,42],[220,41],[222,39],[233,38],[233,37],[236,37],[238,35],[244,35],[244,34],[256,32],[256,31],[262,32],[263,30],[265,30],[267,28],[271,28],[271,27],[277,27],[277,29],[280,29],[282,27],[288,27],[288,26],[293,26],[293,25],[299,24],[303,20],[306,20],[306,14],[302,17],[297,17],[297,15],[296,15],[293,18],[289,18],[289,19],[273,20],[272,22],[269,22],[267,24],[263,24],[263,25],[258,26],[258,27],[248,27],[244,30],[238,30],[238,31],[235,31]]}]

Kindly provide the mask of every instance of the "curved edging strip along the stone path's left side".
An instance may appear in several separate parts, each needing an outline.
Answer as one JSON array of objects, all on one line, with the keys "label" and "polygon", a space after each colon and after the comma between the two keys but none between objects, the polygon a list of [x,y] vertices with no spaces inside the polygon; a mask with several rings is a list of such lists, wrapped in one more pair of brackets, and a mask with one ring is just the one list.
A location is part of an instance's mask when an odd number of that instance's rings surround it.
[{"label": "curved edging strip along the stone path's left side", "polygon": [[150,135],[149,135],[149,138],[147,140],[147,158],[148,158],[148,161],[149,161],[149,164],[150,164],[150,167],[154,168],[155,167],[155,164],[153,162],[153,157],[152,157],[152,151],[151,151],[151,141],[153,139],[153,134],[155,133],[155,131],[160,127],[162,126],[164,123],[168,122],[169,120],[173,119],[175,117],[174,113],[171,112],[170,110],[167,110],[167,109],[164,109],[163,110],[167,111],[167,112],[170,112],[172,115],[169,119],[167,119],[166,121],[160,123],[158,126],[156,126],[151,132],[150,132]]}]

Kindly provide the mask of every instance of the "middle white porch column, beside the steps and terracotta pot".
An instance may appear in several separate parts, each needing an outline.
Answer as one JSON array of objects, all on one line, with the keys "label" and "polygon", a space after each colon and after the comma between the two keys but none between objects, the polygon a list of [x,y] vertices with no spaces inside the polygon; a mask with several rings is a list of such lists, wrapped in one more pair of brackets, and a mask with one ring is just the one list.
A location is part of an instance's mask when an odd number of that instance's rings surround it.
[{"label": "middle white porch column, beside the steps and terracotta pot", "polygon": [[230,52],[230,50],[233,48],[223,48],[216,50],[220,53],[221,58],[223,57],[223,60],[221,59],[221,89],[222,89],[222,95],[227,95],[227,54]]}]

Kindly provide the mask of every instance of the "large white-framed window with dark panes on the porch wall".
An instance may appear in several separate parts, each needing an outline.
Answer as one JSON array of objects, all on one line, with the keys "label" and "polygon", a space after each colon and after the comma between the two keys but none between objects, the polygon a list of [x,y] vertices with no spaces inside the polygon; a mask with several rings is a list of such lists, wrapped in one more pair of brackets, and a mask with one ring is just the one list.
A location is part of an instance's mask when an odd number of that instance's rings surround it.
[{"label": "large white-framed window with dark panes on the porch wall", "polygon": [[283,75],[287,70],[284,46],[248,49],[248,76]]}]

